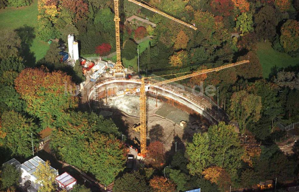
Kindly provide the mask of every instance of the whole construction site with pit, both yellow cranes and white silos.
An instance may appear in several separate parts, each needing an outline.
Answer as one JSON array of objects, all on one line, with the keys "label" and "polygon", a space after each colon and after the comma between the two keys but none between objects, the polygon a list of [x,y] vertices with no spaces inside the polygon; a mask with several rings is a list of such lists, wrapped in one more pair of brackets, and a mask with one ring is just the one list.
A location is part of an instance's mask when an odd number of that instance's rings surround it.
[{"label": "whole construction site with pit, both yellow cranes and white silos", "polygon": [[[129,1],[190,27],[190,30],[197,30],[194,24],[187,24],[138,1]],[[212,97],[205,95],[203,87],[196,91],[176,81],[249,61],[163,77],[141,76],[139,72],[126,69],[121,62],[118,0],[114,1],[114,7],[116,63],[103,61],[100,57],[94,61],[79,58],[74,36],[68,36],[68,61],[73,66],[79,59],[86,76],[86,81],[80,85],[81,101],[88,103],[91,110],[112,118],[120,131],[126,134],[127,142],[138,149],[141,159],[146,157],[147,145],[152,141],[161,141],[167,151],[177,140],[190,141],[194,133],[204,132],[219,121],[228,122],[225,112]],[[176,78],[167,79],[167,76],[173,75],[176,75]]]}]

